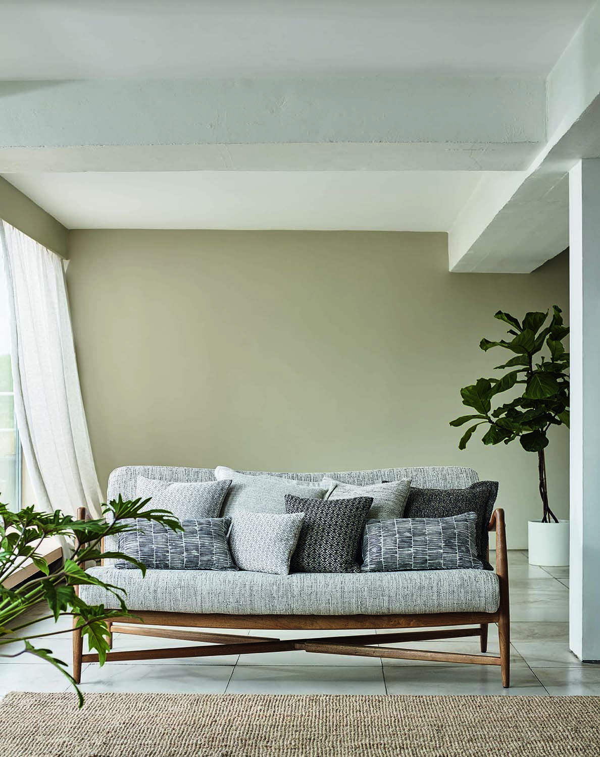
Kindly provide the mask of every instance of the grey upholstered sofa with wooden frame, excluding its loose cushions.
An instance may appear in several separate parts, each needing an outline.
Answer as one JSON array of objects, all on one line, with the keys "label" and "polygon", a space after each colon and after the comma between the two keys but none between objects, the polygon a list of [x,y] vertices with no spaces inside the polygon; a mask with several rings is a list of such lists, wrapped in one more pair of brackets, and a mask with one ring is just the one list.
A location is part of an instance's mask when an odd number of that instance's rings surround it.
[{"label": "grey upholstered sofa with wooden frame, excluding its loose cushions", "polygon": [[[364,486],[380,481],[411,478],[421,488],[467,488],[477,473],[460,467],[373,469],[330,473],[246,472],[320,481],[323,476]],[[126,466],[114,470],[108,481],[108,501],[119,495],[136,497],[138,476],[161,481],[214,481],[214,470],[167,466]],[[82,509],[80,517],[85,517]],[[505,520],[495,509],[489,522],[495,531],[495,571],[453,569],[380,573],[292,573],[270,575],[248,571],[117,569],[112,560],[89,569],[92,575],[127,590],[127,606],[137,618],[111,621],[111,634],[125,633],[165,639],[197,640],[201,646],[160,650],[112,650],[107,662],[165,659],[255,652],[305,650],[353,656],[377,656],[475,665],[498,665],[502,685],[510,684],[510,623],[508,560]],[[105,550],[114,550],[107,537]],[[117,608],[115,597],[94,585],[82,585],[87,603]],[[498,624],[499,656],[487,655],[490,623]],[[152,628],[150,628],[152,626]],[[158,628],[155,628],[157,627]],[[465,628],[467,626],[467,628]],[[177,628],[176,628],[177,627]],[[200,628],[202,631],[181,628]],[[232,634],[205,629],[232,629]],[[280,640],[248,637],[235,629],[294,629],[315,631],[311,638]],[[319,637],[320,629],[377,628],[377,636],[340,633]],[[389,629],[389,631],[387,631]],[[386,647],[386,643],[479,637],[481,654]],[[210,642],[210,644],[206,644]],[[383,646],[382,646],[383,645]],[[73,674],[81,678],[82,662],[98,662],[98,654],[83,653],[81,631],[73,629]]]}]

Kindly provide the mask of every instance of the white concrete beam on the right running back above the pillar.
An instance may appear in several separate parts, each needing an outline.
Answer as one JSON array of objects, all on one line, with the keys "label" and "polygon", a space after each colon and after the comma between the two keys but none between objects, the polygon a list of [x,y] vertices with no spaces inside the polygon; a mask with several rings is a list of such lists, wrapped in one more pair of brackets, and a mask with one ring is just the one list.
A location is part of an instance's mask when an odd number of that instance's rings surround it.
[{"label": "white concrete beam on the right running back above the pillar", "polygon": [[548,76],[548,140],[527,170],[483,179],[448,234],[450,270],[530,273],[568,245],[568,172],[600,156],[600,4]]}]

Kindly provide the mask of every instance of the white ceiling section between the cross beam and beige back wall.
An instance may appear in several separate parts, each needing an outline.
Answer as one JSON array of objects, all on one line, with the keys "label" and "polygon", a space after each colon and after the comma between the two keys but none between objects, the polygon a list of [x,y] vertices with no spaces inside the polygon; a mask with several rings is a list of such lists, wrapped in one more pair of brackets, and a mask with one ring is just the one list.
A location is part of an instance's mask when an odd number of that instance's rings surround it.
[{"label": "white ceiling section between the cross beam and beige back wall", "polygon": [[477,171],[5,174],[69,229],[448,231]]}]

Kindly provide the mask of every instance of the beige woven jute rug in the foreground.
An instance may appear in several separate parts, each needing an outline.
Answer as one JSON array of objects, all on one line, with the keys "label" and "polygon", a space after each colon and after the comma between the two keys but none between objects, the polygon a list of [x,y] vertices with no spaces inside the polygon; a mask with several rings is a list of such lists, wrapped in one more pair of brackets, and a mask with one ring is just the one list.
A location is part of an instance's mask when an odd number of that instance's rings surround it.
[{"label": "beige woven jute rug in the foreground", "polygon": [[11,693],[3,757],[600,755],[600,697]]}]

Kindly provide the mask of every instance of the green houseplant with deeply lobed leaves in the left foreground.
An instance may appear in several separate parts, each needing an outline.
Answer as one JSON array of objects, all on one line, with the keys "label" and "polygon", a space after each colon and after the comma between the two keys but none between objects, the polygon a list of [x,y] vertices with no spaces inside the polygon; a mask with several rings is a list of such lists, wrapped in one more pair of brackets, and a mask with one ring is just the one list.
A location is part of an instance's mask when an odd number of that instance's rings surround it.
[{"label": "green houseplant with deeply lobed leaves in the left foreground", "polygon": [[[133,563],[145,574],[145,565],[133,557],[120,552],[105,552],[101,540],[110,534],[136,531],[136,520],[156,521],[173,531],[183,530],[180,522],[167,510],[144,509],[150,500],[137,499],[123,501],[121,497],[104,505],[102,512],[108,519],[77,521],[64,515],[60,510],[52,514],[36,512],[33,506],[11,512],[0,503],[0,657],[15,658],[31,654],[52,664],[63,673],[77,691],[80,706],[83,696],[67,664],[57,659],[52,650],[37,646],[41,637],[55,636],[65,631],[36,634],[35,625],[39,621],[72,615],[82,634],[87,637],[89,648],[98,652],[103,665],[109,651],[110,632],[106,621],[115,617],[130,615],[125,603],[125,592],[114,584],[107,584],[86,573],[83,566],[87,561],[102,558],[117,558]],[[39,555],[42,541],[52,536],[66,537],[75,541],[75,549],[63,565],[53,572],[45,559]],[[14,575],[23,562],[31,559],[41,575],[33,581],[17,588],[7,589],[2,582]],[[114,594],[120,609],[106,609],[103,605],[89,605],[77,596],[77,586],[95,584]],[[48,615],[31,618],[27,611],[38,603],[48,606]],[[36,644],[31,643],[36,640]],[[8,644],[22,642],[23,647],[8,653]]]}]

